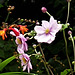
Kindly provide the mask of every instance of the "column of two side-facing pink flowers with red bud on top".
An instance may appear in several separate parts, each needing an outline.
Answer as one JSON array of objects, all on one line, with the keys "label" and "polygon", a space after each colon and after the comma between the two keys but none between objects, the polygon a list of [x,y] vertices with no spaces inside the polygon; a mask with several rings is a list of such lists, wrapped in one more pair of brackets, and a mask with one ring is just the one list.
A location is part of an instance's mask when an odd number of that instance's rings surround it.
[{"label": "column of two side-facing pink flowers with red bud on top", "polygon": [[28,72],[30,72],[30,69],[32,69],[32,65],[30,62],[29,55],[27,55],[25,52],[28,51],[28,45],[26,43],[27,39],[24,37],[23,34],[19,32],[17,28],[9,28],[12,31],[10,32],[11,35],[16,37],[16,44],[17,44],[17,51],[20,54],[19,58],[21,60],[21,66],[23,66],[23,71],[26,70],[26,67],[28,69]]}]

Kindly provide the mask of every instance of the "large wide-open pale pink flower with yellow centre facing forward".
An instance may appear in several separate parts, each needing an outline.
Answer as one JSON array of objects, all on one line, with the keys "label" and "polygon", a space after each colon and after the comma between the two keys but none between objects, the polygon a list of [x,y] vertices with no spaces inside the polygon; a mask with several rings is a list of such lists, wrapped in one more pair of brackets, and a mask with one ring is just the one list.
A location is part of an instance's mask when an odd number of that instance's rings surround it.
[{"label": "large wide-open pale pink flower with yellow centre facing forward", "polygon": [[51,16],[50,21],[42,21],[42,26],[35,26],[34,30],[37,33],[34,37],[38,42],[51,43],[55,40],[56,33],[61,29],[62,24],[58,24]]}]

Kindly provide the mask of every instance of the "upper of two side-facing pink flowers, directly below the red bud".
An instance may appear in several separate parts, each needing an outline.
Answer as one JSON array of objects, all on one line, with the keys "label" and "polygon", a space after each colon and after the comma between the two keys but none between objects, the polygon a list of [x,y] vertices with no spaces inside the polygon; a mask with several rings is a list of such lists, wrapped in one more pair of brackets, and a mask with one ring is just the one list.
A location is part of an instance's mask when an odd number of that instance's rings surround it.
[{"label": "upper of two side-facing pink flowers, directly below the red bud", "polygon": [[22,34],[20,34],[19,36],[16,36],[15,42],[18,45],[17,51],[20,54],[24,53],[24,51],[28,51],[28,45],[26,41],[27,39]]}]

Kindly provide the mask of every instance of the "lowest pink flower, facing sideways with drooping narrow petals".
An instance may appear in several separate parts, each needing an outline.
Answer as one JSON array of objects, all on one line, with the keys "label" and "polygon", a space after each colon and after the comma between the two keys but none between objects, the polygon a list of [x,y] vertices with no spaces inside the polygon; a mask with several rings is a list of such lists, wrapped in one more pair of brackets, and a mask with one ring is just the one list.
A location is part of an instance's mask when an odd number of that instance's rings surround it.
[{"label": "lowest pink flower, facing sideways with drooping narrow petals", "polygon": [[21,66],[23,66],[23,71],[28,70],[28,73],[30,72],[30,69],[32,69],[32,65],[30,62],[30,58],[27,54],[22,54],[19,56],[20,60],[21,60]]}]

